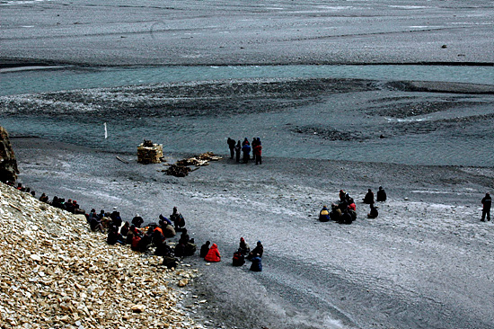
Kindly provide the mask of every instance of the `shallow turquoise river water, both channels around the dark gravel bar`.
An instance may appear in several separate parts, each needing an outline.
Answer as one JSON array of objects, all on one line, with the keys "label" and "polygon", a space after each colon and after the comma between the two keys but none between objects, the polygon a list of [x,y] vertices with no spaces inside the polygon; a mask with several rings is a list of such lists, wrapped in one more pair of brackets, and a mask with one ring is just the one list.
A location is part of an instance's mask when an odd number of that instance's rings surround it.
[{"label": "shallow turquoise river water, both channels around the dark gravel bar", "polygon": [[[80,88],[137,84],[184,83],[234,79],[264,81],[270,78],[358,78],[390,81],[441,81],[494,84],[494,67],[458,66],[267,66],[267,67],[134,67],[4,69],[0,90],[8,94],[42,93]],[[100,93],[98,91],[95,94]],[[226,97],[226,95],[225,95]],[[396,101],[393,101],[396,100]],[[403,102],[410,99],[411,102]],[[445,111],[421,115],[375,115],[383,108],[428,108],[448,105]],[[40,136],[88,147],[134,153],[148,138],[164,145],[165,152],[225,153],[227,137],[260,137],[264,156],[326,158],[400,164],[478,165],[494,162],[492,145],[493,98],[486,95],[410,93],[379,90],[336,93],[317,102],[283,111],[219,116],[155,118],[121,117],[101,113],[87,115],[74,109],[73,116],[2,115],[1,124],[13,136]],[[466,105],[465,105],[466,104]],[[469,104],[472,104],[469,105]],[[85,106],[85,105],[84,105]],[[89,105],[87,105],[89,106]],[[104,138],[103,123],[108,138]],[[357,138],[324,138],[321,128]],[[300,133],[300,132],[303,133]],[[297,133],[299,132],[299,133]],[[383,135],[386,138],[379,138]],[[360,138],[364,136],[364,138]]]}]

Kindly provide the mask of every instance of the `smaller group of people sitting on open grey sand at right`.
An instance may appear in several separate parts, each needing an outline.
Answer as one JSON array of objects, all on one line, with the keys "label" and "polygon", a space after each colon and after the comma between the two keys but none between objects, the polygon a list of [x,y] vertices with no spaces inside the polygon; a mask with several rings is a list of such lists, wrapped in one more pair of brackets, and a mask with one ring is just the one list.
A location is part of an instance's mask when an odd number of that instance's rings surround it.
[{"label": "smaller group of people sitting on open grey sand at right", "polygon": [[[337,203],[331,204],[331,210],[326,206],[322,207],[319,212],[320,221],[327,222],[334,220],[340,224],[351,224],[355,219],[357,219],[357,206],[348,192],[340,190],[339,198],[340,200]],[[386,192],[382,186],[379,186],[379,191],[377,191],[377,201],[384,202],[385,200]],[[371,189],[368,189],[363,202],[368,204],[370,207],[370,212],[367,214],[367,218],[377,218],[379,213],[375,207],[374,192]]]}]

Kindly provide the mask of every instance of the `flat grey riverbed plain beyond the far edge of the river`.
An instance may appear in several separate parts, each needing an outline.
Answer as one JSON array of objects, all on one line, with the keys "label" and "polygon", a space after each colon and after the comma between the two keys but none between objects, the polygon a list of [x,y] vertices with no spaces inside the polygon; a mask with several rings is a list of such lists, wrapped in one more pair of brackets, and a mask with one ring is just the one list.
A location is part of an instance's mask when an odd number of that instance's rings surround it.
[{"label": "flat grey riverbed plain beyond the far edge of the river", "polygon": [[490,1],[1,4],[4,66],[494,63]]}]

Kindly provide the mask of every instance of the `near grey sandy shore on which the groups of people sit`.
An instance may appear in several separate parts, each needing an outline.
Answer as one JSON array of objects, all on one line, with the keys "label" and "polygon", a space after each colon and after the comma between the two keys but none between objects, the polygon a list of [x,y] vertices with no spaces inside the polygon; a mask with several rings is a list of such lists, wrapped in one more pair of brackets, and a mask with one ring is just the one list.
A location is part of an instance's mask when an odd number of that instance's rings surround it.
[{"label": "near grey sandy shore on which the groups of people sit", "polygon": [[[21,181],[87,208],[119,207],[154,221],[177,206],[198,244],[219,245],[224,262],[190,261],[202,276],[197,316],[225,327],[490,328],[494,316],[492,224],[480,199],[492,168],[407,166],[266,158],[229,159],[186,178],[134,155],[13,138]],[[169,155],[173,161],[182,155]],[[366,219],[357,202],[351,226],[320,223],[322,204],[340,189],[361,200],[384,185],[389,200]],[[264,271],[231,266],[240,236],[265,246]]]}]

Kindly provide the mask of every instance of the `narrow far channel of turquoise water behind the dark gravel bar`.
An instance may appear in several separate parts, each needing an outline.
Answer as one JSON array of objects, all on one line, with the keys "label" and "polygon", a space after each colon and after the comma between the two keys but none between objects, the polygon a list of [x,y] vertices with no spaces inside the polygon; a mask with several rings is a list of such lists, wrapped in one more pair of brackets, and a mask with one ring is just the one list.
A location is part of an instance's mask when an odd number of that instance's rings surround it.
[{"label": "narrow far channel of turquoise water behind the dark gravel bar", "polygon": [[494,84],[494,67],[419,65],[128,67],[3,70],[0,95],[60,90],[240,78],[360,78]]}]

